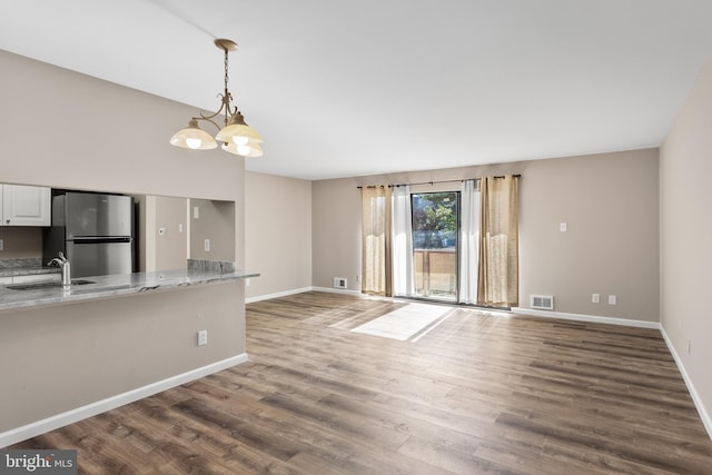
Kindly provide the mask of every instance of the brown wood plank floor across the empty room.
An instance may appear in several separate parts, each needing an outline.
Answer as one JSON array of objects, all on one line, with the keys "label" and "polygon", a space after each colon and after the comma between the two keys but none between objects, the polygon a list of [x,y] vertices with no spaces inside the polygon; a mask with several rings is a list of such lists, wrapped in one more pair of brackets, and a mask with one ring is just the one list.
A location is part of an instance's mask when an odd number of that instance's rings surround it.
[{"label": "brown wood plank floor across the empty room", "polygon": [[350,331],[404,305],[249,304],[249,363],[14,448],[87,474],[712,473],[657,330],[452,307],[405,342]]}]

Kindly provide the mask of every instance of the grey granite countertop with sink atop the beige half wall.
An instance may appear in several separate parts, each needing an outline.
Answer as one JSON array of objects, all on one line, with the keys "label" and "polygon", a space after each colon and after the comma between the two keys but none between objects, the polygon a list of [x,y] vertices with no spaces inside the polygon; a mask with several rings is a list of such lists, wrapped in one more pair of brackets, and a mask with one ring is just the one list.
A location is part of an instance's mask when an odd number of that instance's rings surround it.
[{"label": "grey granite countertop with sink atop the beige half wall", "polygon": [[[259,276],[258,273],[246,270],[227,273],[169,270],[164,273],[136,273],[76,278],[72,280],[90,281],[90,284],[72,285],[68,289],[58,285],[38,287],[30,290],[14,290],[6,285],[0,287],[0,310],[76,303],[202,284],[226,283],[257,276]],[[37,285],[38,283],[33,284]]]}]

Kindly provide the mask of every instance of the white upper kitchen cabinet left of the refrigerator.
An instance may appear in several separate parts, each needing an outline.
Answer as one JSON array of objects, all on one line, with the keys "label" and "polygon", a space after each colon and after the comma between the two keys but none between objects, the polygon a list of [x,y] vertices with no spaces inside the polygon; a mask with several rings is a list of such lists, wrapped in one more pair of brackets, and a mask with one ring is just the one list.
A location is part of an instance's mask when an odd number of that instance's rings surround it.
[{"label": "white upper kitchen cabinet left of the refrigerator", "polygon": [[50,195],[46,187],[4,185],[2,224],[4,226],[50,226]]}]

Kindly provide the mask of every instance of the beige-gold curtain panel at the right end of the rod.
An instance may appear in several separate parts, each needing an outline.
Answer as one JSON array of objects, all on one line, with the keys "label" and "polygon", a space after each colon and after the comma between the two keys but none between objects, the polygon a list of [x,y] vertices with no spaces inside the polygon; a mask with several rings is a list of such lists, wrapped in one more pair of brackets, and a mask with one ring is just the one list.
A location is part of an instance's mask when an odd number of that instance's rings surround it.
[{"label": "beige-gold curtain panel at the right end of the rod", "polygon": [[479,275],[477,305],[518,305],[518,179],[485,177],[479,181]]}]

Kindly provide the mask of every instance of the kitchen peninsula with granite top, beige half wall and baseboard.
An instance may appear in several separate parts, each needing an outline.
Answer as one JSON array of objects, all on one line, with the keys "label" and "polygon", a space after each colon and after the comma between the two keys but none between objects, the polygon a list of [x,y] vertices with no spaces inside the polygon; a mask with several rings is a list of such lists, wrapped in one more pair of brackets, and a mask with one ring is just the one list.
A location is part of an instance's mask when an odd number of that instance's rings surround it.
[{"label": "kitchen peninsula with granite top, beige half wall and baseboard", "polygon": [[204,264],[2,286],[0,447],[246,362],[258,274]]}]

